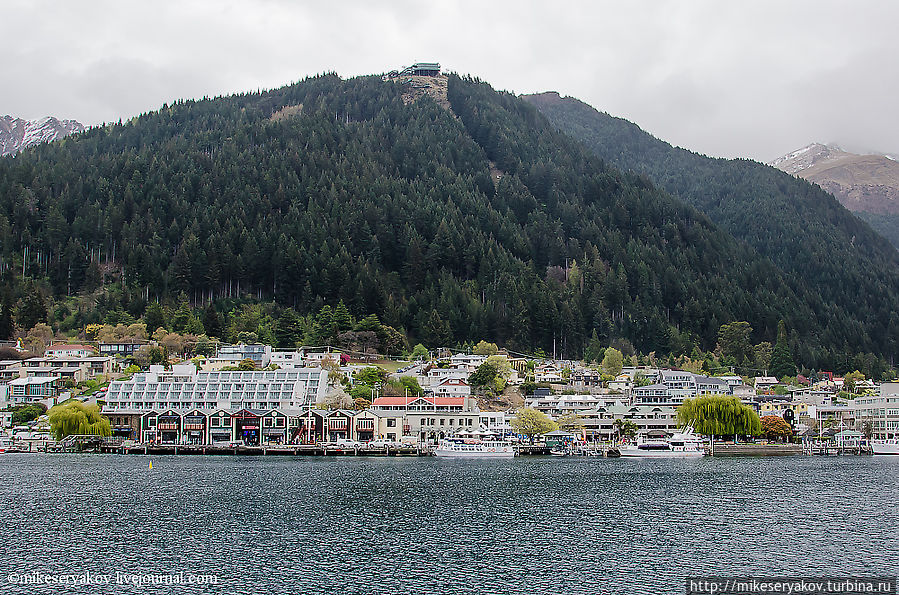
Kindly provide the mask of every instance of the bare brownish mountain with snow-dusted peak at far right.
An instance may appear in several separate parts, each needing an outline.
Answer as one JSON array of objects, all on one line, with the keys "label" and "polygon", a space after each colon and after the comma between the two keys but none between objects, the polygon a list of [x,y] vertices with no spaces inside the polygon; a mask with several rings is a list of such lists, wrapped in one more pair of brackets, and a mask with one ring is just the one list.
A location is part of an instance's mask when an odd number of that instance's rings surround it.
[{"label": "bare brownish mountain with snow-dusted peak at far right", "polygon": [[770,165],[814,182],[899,247],[899,162],[814,143]]}]

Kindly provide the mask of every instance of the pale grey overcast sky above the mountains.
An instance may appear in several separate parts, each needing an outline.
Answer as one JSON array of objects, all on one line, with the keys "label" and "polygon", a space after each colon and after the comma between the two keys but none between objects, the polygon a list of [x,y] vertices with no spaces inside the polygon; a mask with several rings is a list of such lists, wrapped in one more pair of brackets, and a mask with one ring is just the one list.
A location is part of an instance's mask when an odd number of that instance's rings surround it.
[{"label": "pale grey overcast sky above the mountains", "polygon": [[899,2],[3,0],[0,115],[84,124],[415,61],[554,90],[673,144],[899,153]]}]

